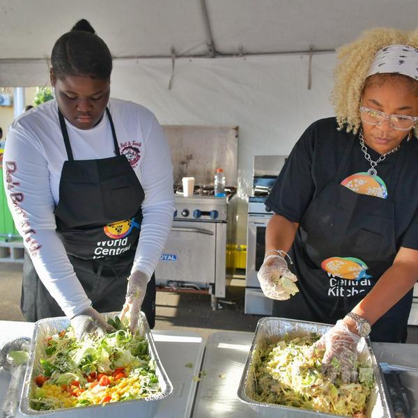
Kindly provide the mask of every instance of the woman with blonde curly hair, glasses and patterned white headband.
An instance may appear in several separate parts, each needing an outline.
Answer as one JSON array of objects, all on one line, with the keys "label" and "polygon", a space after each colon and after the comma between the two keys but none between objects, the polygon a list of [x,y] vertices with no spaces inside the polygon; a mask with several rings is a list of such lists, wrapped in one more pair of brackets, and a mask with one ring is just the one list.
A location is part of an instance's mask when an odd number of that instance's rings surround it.
[{"label": "woman with blonde curly hair, glasses and patterned white headband", "polygon": [[418,31],[373,29],[338,56],[336,117],[307,128],[266,201],[258,279],[275,316],[337,321],[318,346],[350,380],[360,336],[405,342],[418,278]]}]

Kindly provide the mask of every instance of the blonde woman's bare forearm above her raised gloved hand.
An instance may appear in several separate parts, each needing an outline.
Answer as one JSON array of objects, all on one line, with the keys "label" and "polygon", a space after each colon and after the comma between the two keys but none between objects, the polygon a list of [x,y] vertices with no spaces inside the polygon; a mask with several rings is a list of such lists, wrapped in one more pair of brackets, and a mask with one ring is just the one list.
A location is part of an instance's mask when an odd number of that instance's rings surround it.
[{"label": "blonde woman's bare forearm above her raised gloved hand", "polygon": [[299,224],[291,222],[281,215],[274,214],[268,222],[265,232],[265,252],[272,249],[288,251],[295,239],[295,233]]}]

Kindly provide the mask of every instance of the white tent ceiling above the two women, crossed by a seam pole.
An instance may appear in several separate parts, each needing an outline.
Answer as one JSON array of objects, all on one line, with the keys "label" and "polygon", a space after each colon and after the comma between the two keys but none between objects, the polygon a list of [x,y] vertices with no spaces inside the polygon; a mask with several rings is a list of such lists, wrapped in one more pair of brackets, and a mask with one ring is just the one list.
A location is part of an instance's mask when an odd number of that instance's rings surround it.
[{"label": "white tent ceiling above the two women, crossed by a seam pole", "polygon": [[47,58],[82,17],[120,58],[333,50],[417,15],[417,0],[0,0],[0,62]]}]

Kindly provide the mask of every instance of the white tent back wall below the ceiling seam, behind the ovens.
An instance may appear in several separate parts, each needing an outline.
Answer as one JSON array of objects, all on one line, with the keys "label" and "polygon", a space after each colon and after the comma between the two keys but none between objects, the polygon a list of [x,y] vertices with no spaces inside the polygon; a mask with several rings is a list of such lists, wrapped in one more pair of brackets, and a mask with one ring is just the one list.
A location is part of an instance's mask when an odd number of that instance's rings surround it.
[{"label": "white tent back wall below the ceiling seam, behind the ovens", "polygon": [[[254,155],[286,155],[308,125],[332,115],[335,54],[116,60],[111,95],[144,104],[162,124],[239,127],[236,242],[245,244]],[[226,179],[228,183],[228,179]]]}]

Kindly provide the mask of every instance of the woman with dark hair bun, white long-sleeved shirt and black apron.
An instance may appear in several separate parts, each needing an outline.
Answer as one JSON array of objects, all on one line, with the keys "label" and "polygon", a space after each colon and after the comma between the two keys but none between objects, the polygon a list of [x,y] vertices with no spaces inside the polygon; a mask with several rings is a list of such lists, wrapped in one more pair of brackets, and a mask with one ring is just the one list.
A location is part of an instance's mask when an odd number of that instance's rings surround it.
[{"label": "woman with dark hair bun, white long-sleeved shirt and black apron", "polygon": [[79,339],[108,331],[99,312],[121,308],[132,332],[141,309],[153,327],[174,210],[167,140],[148,109],[109,98],[111,54],[86,20],[51,62],[56,98],[13,122],[3,164],[25,245],[22,312],[65,314]]}]

